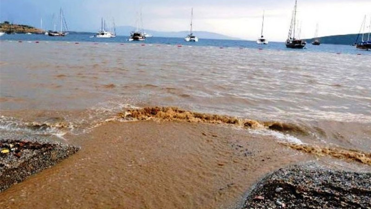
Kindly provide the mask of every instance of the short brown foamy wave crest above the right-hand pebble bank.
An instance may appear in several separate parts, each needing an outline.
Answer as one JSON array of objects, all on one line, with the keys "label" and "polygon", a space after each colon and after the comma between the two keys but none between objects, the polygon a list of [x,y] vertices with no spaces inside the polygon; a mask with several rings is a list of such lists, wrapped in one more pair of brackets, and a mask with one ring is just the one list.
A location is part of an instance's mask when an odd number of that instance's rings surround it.
[{"label": "short brown foamy wave crest above the right-hand pebble bank", "polygon": [[302,152],[307,152],[319,156],[329,155],[336,158],[349,159],[367,165],[371,165],[371,153],[367,152],[350,150],[345,148],[316,147],[307,144],[291,144],[287,142],[279,142],[279,144],[285,145],[292,149],[296,149]]}]

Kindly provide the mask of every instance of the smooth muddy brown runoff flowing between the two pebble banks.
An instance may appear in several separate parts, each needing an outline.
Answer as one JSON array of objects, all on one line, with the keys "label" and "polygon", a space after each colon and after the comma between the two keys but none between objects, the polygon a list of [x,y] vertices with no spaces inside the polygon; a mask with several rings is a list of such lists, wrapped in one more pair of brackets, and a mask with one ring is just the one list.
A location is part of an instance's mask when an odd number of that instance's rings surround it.
[{"label": "smooth muddy brown runoff flowing between the two pebble banks", "polygon": [[263,174],[313,160],[210,124],[108,122],[65,138],[81,150],[1,193],[1,208],[234,208]]}]

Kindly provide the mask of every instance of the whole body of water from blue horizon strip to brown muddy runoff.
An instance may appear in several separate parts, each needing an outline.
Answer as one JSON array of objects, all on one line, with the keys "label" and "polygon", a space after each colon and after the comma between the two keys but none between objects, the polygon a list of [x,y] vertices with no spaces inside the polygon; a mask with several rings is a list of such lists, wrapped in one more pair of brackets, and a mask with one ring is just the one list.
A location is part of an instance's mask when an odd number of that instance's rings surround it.
[{"label": "whole body of water from blue horizon strip to brown muddy runoff", "polygon": [[[0,37],[2,138],[82,147],[4,192],[7,204],[233,208],[254,181],[290,163],[327,156],[322,162],[337,168],[370,169],[371,51],[127,38]],[[244,157],[251,148],[264,163],[235,159],[244,146]]]}]

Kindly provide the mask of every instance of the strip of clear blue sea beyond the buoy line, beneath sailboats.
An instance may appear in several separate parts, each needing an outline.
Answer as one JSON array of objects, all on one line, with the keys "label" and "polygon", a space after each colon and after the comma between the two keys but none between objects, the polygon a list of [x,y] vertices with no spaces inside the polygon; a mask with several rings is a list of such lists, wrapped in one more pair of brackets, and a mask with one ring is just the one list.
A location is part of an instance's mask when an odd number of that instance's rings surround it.
[{"label": "strip of clear blue sea beyond the buoy line, beneath sailboats", "polygon": [[170,45],[194,45],[194,46],[214,46],[214,47],[236,47],[236,48],[252,48],[252,49],[273,49],[273,50],[286,50],[286,51],[303,51],[303,52],[328,52],[328,53],[341,53],[341,54],[360,54],[371,55],[371,51],[361,51],[349,45],[334,45],[334,44],[321,44],[313,46],[307,44],[306,49],[288,49],[283,42],[269,42],[269,45],[258,45],[255,41],[243,40],[220,40],[220,39],[200,39],[199,42],[185,42],[183,38],[164,38],[164,37],[151,37],[147,38],[144,42],[129,42],[128,36],[117,36],[116,38],[90,38],[91,35],[72,35],[69,34],[65,37],[52,37],[47,35],[3,35],[0,40],[11,41],[69,41],[69,42],[104,42],[104,43],[137,43],[137,44],[170,44]]}]

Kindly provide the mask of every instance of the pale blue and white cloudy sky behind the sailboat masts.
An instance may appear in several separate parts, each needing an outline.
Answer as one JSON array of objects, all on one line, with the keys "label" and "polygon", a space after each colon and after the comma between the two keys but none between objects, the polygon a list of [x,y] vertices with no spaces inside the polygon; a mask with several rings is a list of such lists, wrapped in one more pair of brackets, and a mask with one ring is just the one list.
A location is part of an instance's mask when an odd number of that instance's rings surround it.
[{"label": "pale blue and white cloudy sky behind the sailboat masts", "polygon": [[[0,0],[0,21],[53,29],[62,7],[69,30],[96,32],[103,17],[107,24],[135,26],[142,11],[147,30],[189,30],[193,7],[193,29],[221,33],[246,40],[263,35],[269,41],[285,41],[295,0]],[[54,15],[53,15],[54,14]],[[316,24],[318,36],[358,33],[371,0],[298,0],[297,23],[300,38],[312,38]],[[127,35],[127,34],[118,34]]]}]

